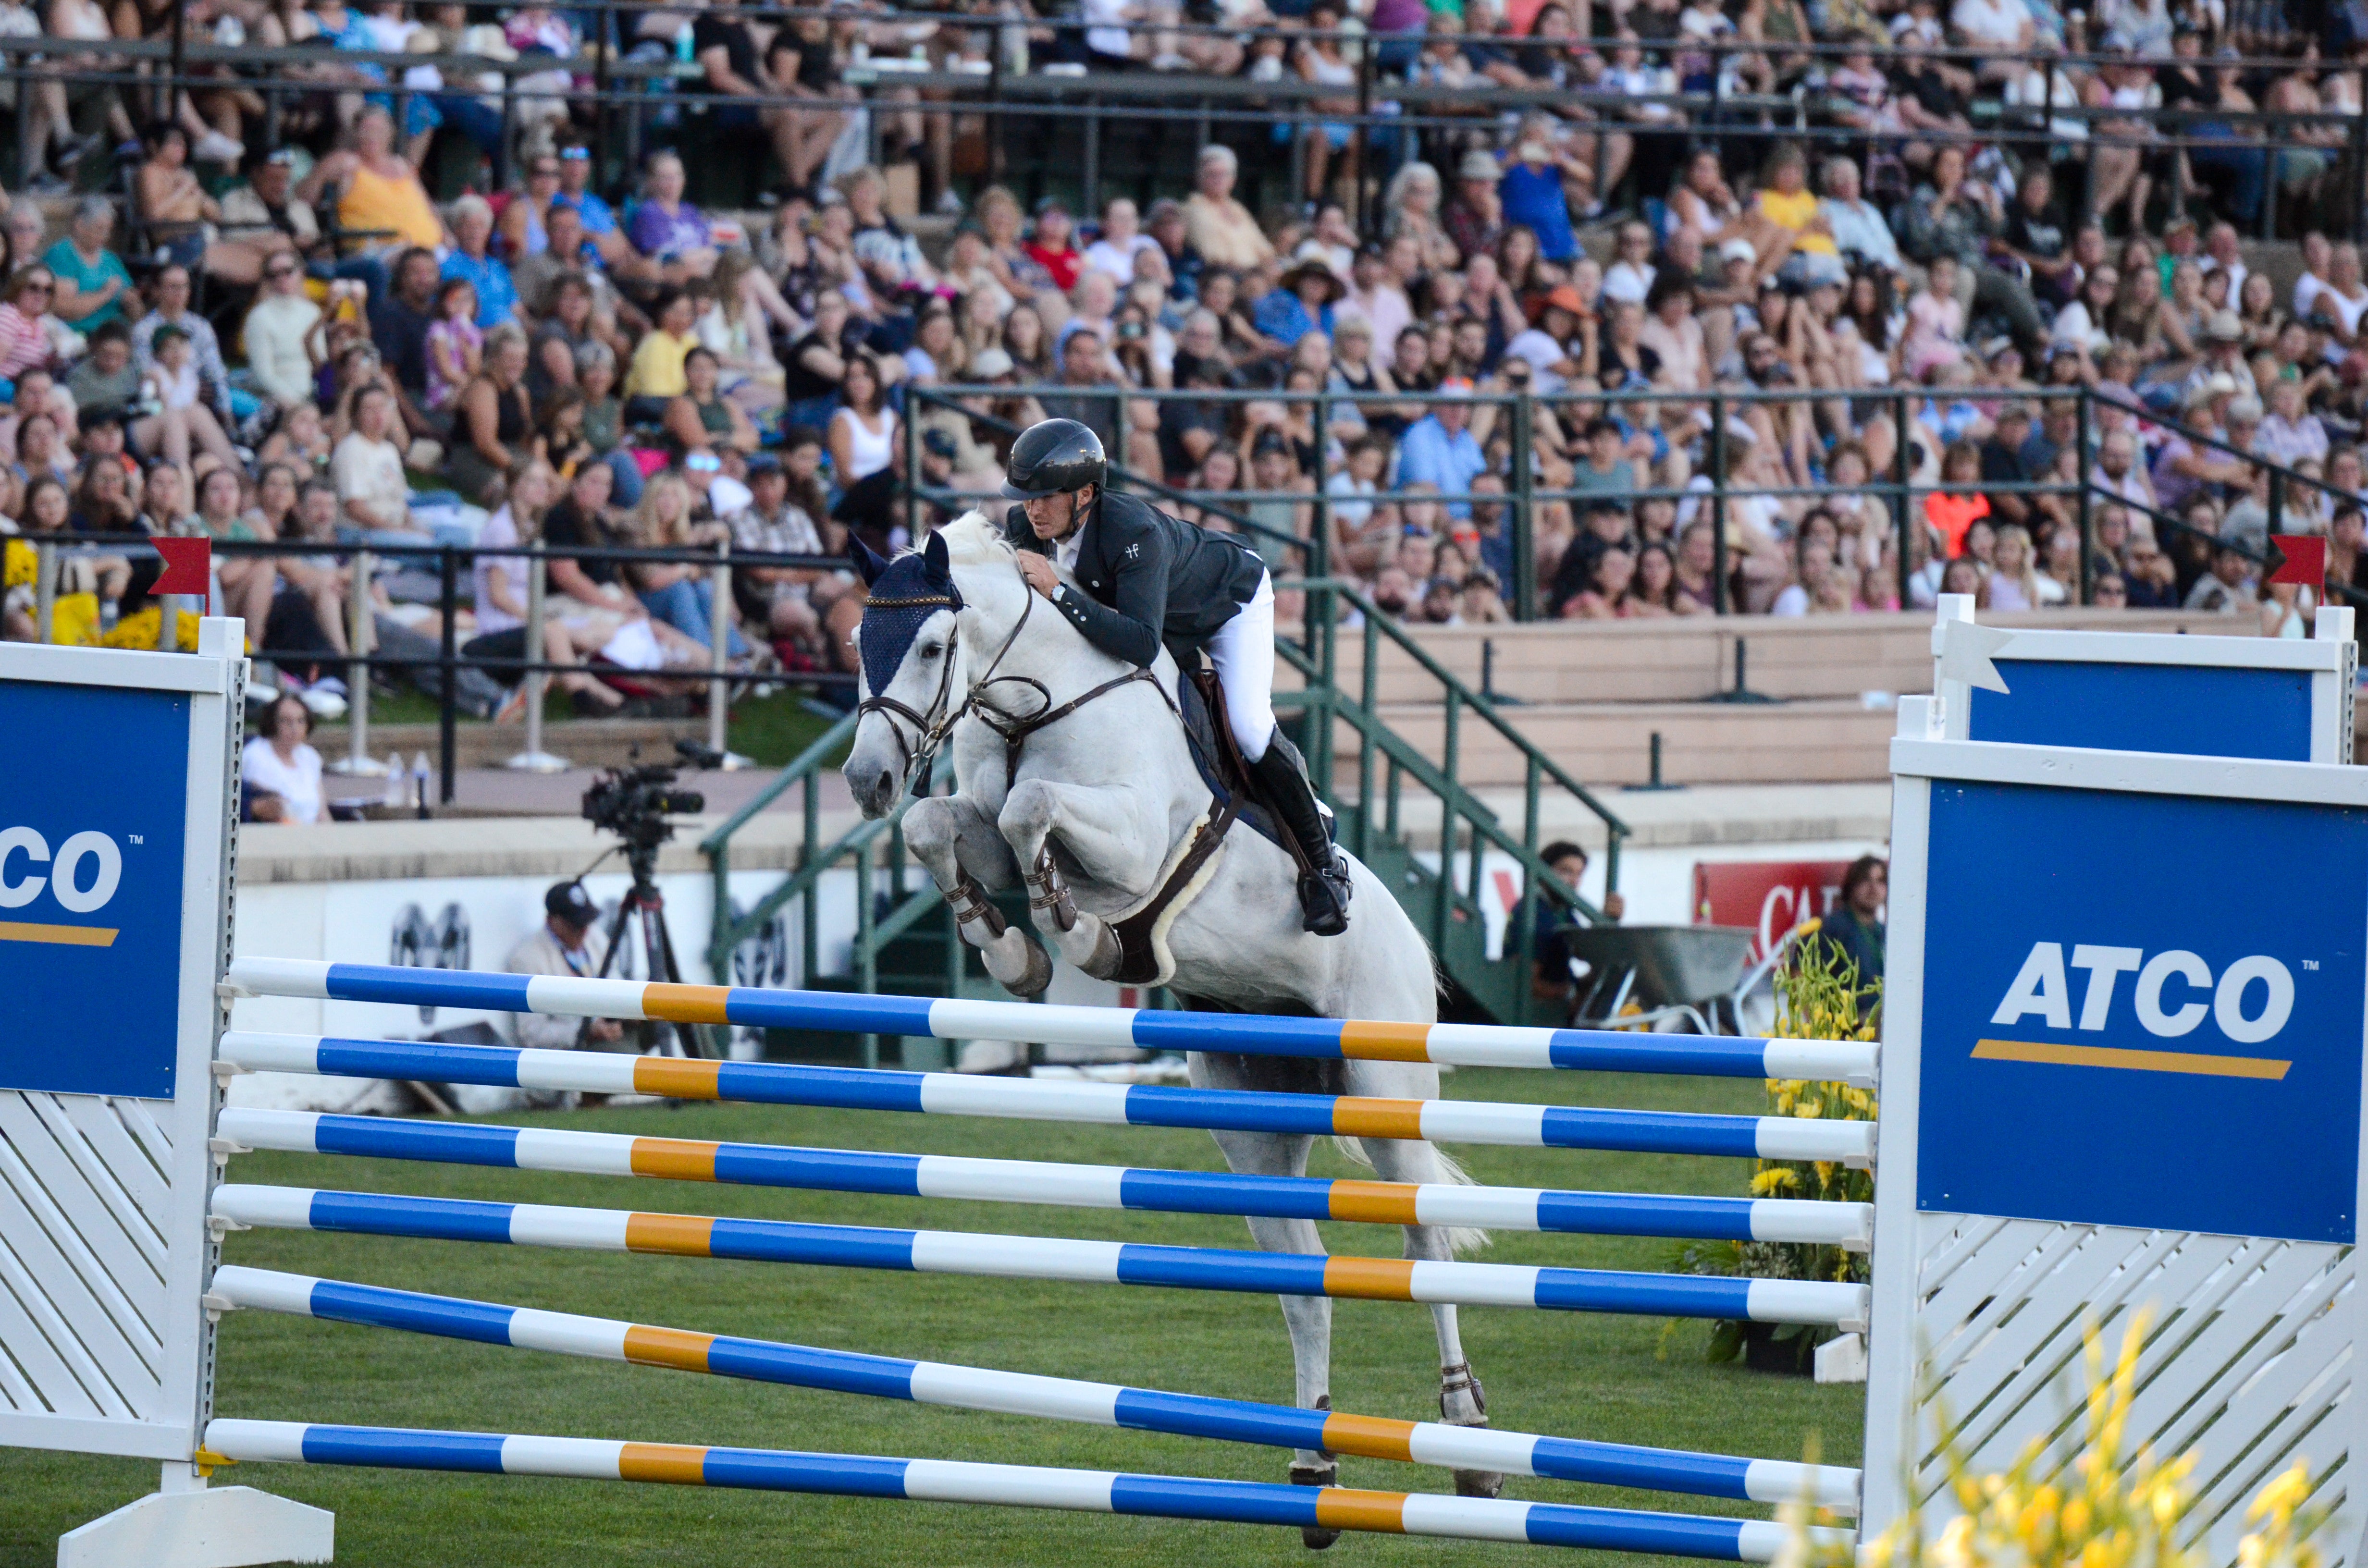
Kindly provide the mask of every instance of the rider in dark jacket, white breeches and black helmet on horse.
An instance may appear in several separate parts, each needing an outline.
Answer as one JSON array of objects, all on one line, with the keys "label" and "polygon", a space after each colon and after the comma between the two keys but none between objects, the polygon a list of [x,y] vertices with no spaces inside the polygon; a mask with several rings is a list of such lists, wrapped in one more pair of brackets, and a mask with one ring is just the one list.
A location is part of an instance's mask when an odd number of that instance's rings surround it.
[{"label": "rider in dark jacket, white breeches and black helmet on horse", "polygon": [[[1160,644],[1179,670],[1205,649],[1224,689],[1227,727],[1260,793],[1302,853],[1307,931],[1347,931],[1350,879],[1317,810],[1307,765],[1274,730],[1274,583],[1243,540],[1103,490],[1101,438],[1075,419],[1042,419],[1011,445],[1004,538],[1028,585],[1103,654],[1151,666]],[[1068,568],[1073,585],[1054,573]],[[1077,592],[1077,590],[1085,592]]]}]

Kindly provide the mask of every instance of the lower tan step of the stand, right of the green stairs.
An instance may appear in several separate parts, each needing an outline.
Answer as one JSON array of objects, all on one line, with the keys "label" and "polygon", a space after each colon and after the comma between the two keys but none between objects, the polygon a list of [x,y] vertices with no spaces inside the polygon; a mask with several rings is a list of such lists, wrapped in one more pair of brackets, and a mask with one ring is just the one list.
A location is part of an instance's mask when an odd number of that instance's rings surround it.
[{"label": "lower tan step of the stand, right of the green stairs", "polygon": [[[1444,748],[1444,715],[1430,703],[1381,711],[1423,756]],[[1643,784],[1653,734],[1669,784],[1845,784],[1890,777],[1899,715],[1859,701],[1790,703],[1542,703],[1508,713],[1532,746],[1582,784]],[[1525,760],[1487,725],[1461,722],[1456,777],[1468,789],[1520,789]],[[1336,741],[1340,777],[1354,777],[1354,734]],[[1378,775],[1376,775],[1378,789]],[[1418,791],[1409,791],[1414,798]],[[1558,791],[1556,791],[1558,793]]]}]

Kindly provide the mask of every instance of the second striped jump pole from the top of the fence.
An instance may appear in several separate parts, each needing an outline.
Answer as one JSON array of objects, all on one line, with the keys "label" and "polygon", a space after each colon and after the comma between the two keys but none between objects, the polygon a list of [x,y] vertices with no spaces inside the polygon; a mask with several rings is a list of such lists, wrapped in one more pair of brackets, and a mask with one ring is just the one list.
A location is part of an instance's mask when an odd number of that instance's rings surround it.
[{"label": "second striped jump pole from the top of the fence", "polygon": [[[516,976],[488,976],[516,978]],[[431,1040],[339,1040],[329,1035],[223,1035],[220,1063],[246,1073],[324,1073],[414,1082],[474,1082],[502,1090],[663,1094],[736,1099],[760,1106],[914,1111],[999,1120],[1099,1123],[1108,1127],[1208,1127],[1300,1132],[1310,1137],[1418,1137],[1516,1149],[1613,1149],[1622,1153],[1705,1153],[1762,1161],[1873,1158],[1875,1125],[1797,1116],[1698,1116],[1691,1111],[1594,1111],[1480,1099],[1371,1099],[1354,1094],[1260,1094],[1165,1085],[1035,1082],[964,1073],[807,1068],[779,1061],[701,1061],[611,1052],[538,1052]],[[220,1071],[220,1068],[218,1068]]]}]

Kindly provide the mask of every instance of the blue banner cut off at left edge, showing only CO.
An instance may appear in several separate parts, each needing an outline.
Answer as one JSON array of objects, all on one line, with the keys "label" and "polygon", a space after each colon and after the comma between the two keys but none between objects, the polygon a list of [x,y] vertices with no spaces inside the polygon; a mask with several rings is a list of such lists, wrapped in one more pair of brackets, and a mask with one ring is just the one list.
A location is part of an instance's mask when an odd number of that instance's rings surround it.
[{"label": "blue banner cut off at left edge, showing only CO", "polygon": [[189,696],[0,682],[0,1090],[170,1099]]}]

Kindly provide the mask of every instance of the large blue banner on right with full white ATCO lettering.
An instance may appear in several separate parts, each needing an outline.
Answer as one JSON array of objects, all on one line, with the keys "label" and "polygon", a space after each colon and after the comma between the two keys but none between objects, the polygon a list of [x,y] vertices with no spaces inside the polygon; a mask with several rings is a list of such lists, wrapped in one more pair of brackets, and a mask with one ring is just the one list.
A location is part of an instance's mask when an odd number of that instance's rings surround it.
[{"label": "large blue banner on right with full white ATCO lettering", "polygon": [[2354,1241],[2368,812],[1932,784],[1916,1203]]}]

